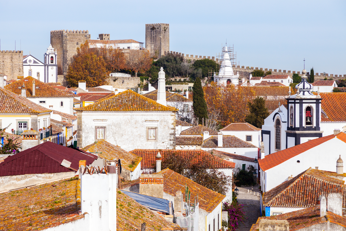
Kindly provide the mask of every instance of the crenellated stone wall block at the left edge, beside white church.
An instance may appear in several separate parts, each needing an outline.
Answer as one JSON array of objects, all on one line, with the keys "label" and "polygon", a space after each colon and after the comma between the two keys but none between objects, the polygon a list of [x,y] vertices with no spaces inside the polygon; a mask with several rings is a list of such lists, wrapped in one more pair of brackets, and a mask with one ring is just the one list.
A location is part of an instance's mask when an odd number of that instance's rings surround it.
[{"label": "crenellated stone wall block at the left edge, beside white church", "polygon": [[0,74],[7,80],[23,76],[23,51],[0,51]]}]

